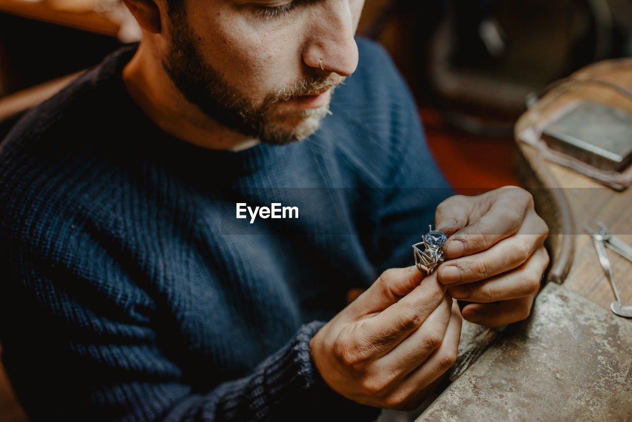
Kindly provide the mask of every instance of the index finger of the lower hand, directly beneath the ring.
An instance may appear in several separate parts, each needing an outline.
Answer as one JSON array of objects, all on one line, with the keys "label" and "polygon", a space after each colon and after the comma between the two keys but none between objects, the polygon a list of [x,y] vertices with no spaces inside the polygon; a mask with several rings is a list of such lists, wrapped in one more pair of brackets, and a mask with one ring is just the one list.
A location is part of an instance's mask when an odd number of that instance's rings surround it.
[{"label": "index finger of the lower hand, directly beneath the ring", "polygon": [[[396,304],[358,323],[358,338],[373,350],[372,358],[384,356],[410,333],[419,328],[446,294],[446,288],[430,275]],[[359,298],[358,298],[359,299]]]}]

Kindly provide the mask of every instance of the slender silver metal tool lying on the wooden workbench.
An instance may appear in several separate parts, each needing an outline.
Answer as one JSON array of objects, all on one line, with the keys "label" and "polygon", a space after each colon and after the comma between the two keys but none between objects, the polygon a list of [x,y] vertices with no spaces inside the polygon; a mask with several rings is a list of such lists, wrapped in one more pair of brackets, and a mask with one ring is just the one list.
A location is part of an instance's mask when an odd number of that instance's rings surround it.
[{"label": "slender silver metal tool lying on the wooden workbench", "polygon": [[[593,230],[591,226],[594,225],[599,226],[599,229]],[[612,233],[608,231],[608,228],[605,227],[605,224],[601,221],[593,221],[592,224],[585,225],[585,229],[586,232],[590,233],[592,236],[593,244],[595,245],[595,249],[597,249],[597,256],[599,256],[599,263],[604,269],[605,275],[612,286],[612,290],[614,291],[614,297],[617,299],[610,304],[610,309],[619,316],[632,318],[632,306],[624,306],[621,303],[621,296],[619,296],[619,290],[617,290],[617,286],[614,283],[612,265],[610,263],[610,259],[608,259],[607,253],[605,252],[605,246],[609,247],[612,251],[617,252],[617,254],[620,254],[631,262],[632,248],[621,239],[617,239],[616,236],[612,235]]]}]

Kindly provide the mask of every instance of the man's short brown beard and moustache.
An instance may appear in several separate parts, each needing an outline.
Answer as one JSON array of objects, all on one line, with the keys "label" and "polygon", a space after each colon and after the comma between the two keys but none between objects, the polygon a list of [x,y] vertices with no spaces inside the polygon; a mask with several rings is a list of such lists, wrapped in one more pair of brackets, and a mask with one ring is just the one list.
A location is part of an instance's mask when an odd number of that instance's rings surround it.
[{"label": "man's short brown beard and moustache", "polygon": [[213,120],[265,144],[284,145],[312,135],[320,127],[322,119],[331,114],[327,102],[320,108],[288,113],[284,117],[298,123],[283,124],[283,121],[279,121],[281,116],[274,115],[274,105],[298,96],[320,94],[327,88],[333,92],[334,87],[344,81],[344,77],[331,73],[324,78],[299,80],[270,92],[262,105],[255,106],[204,60],[193,41],[193,32],[186,24],[184,12],[179,11],[172,16],[169,30],[171,45],[162,60],[162,66],[186,100]]}]

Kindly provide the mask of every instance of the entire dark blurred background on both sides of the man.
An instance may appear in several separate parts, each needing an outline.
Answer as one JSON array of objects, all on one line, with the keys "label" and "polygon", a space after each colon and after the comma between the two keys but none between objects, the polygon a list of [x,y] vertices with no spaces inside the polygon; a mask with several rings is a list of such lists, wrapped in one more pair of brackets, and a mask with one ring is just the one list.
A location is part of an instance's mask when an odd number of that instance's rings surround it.
[{"label": "entire dark blurred background on both sides of the man", "polygon": [[[367,0],[358,33],[389,50],[439,166],[474,194],[519,183],[513,126],[530,94],[590,63],[632,56],[632,1]],[[118,0],[0,0],[0,137],[17,117],[7,100],[139,38]],[[23,420],[1,374],[0,419]]]}]

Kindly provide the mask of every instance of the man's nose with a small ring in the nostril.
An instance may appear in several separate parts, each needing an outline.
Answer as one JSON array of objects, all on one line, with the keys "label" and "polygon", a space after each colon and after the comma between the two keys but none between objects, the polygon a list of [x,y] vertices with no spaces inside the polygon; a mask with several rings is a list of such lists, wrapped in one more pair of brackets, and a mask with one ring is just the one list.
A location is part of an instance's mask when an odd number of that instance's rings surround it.
[{"label": "man's nose with a small ring in the nostril", "polygon": [[353,38],[354,33],[349,2],[323,1],[310,25],[303,47],[303,62],[316,70],[341,76],[351,75],[358,67],[358,46]]}]

